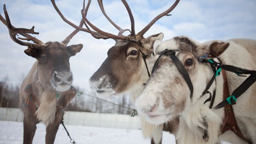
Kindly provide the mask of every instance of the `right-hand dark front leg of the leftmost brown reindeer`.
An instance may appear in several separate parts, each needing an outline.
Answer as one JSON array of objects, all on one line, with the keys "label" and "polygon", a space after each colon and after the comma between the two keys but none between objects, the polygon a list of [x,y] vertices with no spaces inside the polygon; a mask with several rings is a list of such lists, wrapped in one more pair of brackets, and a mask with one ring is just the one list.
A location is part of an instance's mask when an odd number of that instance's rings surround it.
[{"label": "right-hand dark front leg of the leftmost brown reindeer", "polygon": [[54,121],[46,127],[46,136],[45,136],[45,143],[46,144],[53,144],[55,140],[56,133],[58,131],[58,127],[61,123],[62,116],[64,114],[65,108],[58,107],[55,113]]}]

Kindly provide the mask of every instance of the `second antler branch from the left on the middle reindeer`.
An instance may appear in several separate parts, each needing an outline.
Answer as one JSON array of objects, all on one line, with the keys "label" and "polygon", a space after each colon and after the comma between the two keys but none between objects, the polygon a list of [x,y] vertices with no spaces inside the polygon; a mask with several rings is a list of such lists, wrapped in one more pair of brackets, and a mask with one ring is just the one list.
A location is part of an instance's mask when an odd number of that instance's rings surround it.
[{"label": "second antler branch from the left on the middle reindeer", "polygon": [[[91,1],[91,0],[88,0],[88,3],[90,3],[90,1]],[[84,13],[87,14],[87,11],[88,11],[88,9],[85,9]],[[92,23],[90,23],[89,20],[87,20],[86,17],[83,17],[83,19],[84,19],[84,21],[85,21],[91,28],[93,28],[94,31],[97,31],[99,34],[101,34],[101,35],[103,35],[103,36],[105,36],[105,37],[109,37],[109,38],[114,39],[114,40],[116,40],[116,39],[118,39],[118,40],[126,40],[126,39],[127,39],[126,36],[122,36],[122,35],[121,35],[121,36],[116,36],[116,35],[114,35],[114,34],[111,34],[111,33],[105,32],[105,31],[102,31],[102,30],[100,30],[99,28],[97,28],[95,25],[93,25]],[[87,26],[87,25],[85,25],[85,26]],[[88,26],[87,26],[87,28],[88,28]]]}]

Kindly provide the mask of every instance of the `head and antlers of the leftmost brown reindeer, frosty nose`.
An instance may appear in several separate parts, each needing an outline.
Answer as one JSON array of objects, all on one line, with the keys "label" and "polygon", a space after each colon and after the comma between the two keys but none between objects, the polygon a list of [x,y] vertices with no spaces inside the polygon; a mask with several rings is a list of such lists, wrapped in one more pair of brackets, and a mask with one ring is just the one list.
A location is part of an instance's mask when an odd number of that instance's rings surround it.
[{"label": "head and antlers of the leftmost brown reindeer, frosty nose", "polygon": [[[4,5],[4,14],[6,20],[0,15],[0,20],[8,27],[10,37],[13,41],[20,45],[28,46],[24,51],[28,56],[37,59],[37,74],[38,79],[45,89],[56,89],[58,91],[66,91],[70,88],[73,82],[73,75],[70,70],[70,56],[76,55],[83,45],[67,46],[70,39],[79,31],[75,30],[64,41],[43,43],[29,34],[39,34],[34,31],[34,26],[31,29],[15,28],[12,26],[9,15]],[[82,25],[82,23],[81,23]],[[16,38],[20,34],[26,38]],[[35,43],[23,42],[22,40],[32,40]]]}]

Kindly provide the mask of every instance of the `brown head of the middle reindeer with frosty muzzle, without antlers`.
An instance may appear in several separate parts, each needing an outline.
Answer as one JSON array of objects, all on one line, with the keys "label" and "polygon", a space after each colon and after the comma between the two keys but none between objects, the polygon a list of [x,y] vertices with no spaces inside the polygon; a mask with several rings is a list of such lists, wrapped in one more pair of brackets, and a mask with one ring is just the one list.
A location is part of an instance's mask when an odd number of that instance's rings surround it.
[{"label": "brown head of the middle reindeer with frosty muzzle, without antlers", "polygon": [[[162,40],[163,33],[152,35],[139,42],[120,40],[108,50],[108,57],[91,76],[90,87],[100,98],[143,86],[148,79],[143,55],[151,58],[153,43]],[[137,87],[137,88],[136,88]]]}]

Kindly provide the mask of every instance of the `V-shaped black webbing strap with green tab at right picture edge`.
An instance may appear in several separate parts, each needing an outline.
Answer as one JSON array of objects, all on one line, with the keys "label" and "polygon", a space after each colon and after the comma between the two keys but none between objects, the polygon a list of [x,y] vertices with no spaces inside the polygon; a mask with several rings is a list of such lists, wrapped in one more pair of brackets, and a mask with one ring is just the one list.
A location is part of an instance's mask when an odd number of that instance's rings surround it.
[{"label": "V-shaped black webbing strap with green tab at right picture edge", "polygon": [[222,65],[222,69],[236,73],[238,76],[241,76],[242,74],[250,74],[250,76],[245,79],[245,81],[238,88],[236,88],[236,90],[233,91],[230,97],[219,103],[214,107],[214,109],[219,109],[227,104],[236,104],[236,99],[239,98],[239,96],[241,96],[248,88],[250,88],[254,82],[256,82],[256,71],[238,68],[232,65]]}]

